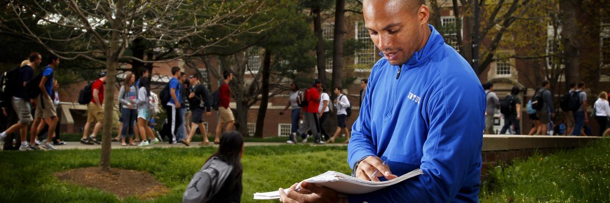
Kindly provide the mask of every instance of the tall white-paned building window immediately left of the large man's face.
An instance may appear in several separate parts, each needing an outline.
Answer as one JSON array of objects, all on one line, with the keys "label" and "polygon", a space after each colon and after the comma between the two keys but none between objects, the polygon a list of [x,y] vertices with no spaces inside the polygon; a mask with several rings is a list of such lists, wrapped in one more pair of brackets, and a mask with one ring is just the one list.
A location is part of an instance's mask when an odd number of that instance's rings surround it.
[{"label": "tall white-paned building window immediately left of the large man's face", "polygon": [[356,40],[362,43],[362,48],[356,50],[356,64],[367,66],[375,65],[375,44],[368,35],[368,29],[364,27],[364,22],[356,23]]}]

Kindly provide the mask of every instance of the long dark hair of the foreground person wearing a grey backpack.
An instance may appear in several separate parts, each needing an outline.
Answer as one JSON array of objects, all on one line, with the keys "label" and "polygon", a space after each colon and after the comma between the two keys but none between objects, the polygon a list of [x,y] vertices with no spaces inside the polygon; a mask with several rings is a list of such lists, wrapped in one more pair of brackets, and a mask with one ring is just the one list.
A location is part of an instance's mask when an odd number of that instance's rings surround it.
[{"label": "long dark hair of the foreground person wearing a grey backpack", "polygon": [[239,154],[242,152],[243,137],[239,132],[232,130],[225,132],[220,137],[218,150],[207,158],[206,162],[212,157],[218,157],[229,165],[233,166],[231,173],[242,173],[242,162]]}]

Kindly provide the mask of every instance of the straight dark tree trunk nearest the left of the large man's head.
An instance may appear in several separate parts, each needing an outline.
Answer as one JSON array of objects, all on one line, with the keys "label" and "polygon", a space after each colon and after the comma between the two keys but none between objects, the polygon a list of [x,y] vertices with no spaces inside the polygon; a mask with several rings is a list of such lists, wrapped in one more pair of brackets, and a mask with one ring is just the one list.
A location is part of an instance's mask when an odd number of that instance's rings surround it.
[{"label": "straight dark tree trunk nearest the left of the large man's head", "polygon": [[[341,73],[343,69],[343,24],[345,23],[345,0],[337,0],[335,6],[335,30],[332,41],[332,88],[331,98],[336,98],[335,87],[341,86]],[[343,87],[345,88],[345,87]]]}]

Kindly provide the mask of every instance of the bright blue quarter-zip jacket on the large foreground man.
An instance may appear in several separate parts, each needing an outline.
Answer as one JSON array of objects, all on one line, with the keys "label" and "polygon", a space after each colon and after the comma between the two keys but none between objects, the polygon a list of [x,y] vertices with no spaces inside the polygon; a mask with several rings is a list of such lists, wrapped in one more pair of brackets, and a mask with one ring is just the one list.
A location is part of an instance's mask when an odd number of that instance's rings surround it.
[{"label": "bright blue quarter-zip jacket on the large foreground man", "polygon": [[405,64],[382,58],[373,66],[348,146],[352,169],[375,155],[397,176],[418,168],[423,175],[350,202],[478,202],[485,93],[466,60],[429,28]]}]

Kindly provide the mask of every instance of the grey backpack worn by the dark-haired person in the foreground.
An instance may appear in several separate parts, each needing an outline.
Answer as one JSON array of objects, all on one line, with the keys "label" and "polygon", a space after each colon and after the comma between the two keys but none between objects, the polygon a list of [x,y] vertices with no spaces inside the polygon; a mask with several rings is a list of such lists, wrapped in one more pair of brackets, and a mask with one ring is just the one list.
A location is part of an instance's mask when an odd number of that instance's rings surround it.
[{"label": "grey backpack worn by the dark-haired person in the foreground", "polygon": [[210,201],[223,187],[232,169],[233,166],[223,162],[220,158],[210,158],[188,183],[187,190],[182,195],[182,202]]}]

